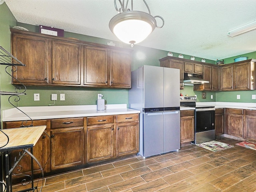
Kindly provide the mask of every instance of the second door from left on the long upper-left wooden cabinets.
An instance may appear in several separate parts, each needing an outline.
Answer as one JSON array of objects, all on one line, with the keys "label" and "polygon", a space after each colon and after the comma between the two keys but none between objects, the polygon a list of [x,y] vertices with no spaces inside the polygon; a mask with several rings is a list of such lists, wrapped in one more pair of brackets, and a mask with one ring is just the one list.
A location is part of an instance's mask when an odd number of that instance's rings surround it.
[{"label": "second door from left on the long upper-left wooden cabinets", "polygon": [[52,84],[81,85],[81,53],[80,44],[52,41]]}]

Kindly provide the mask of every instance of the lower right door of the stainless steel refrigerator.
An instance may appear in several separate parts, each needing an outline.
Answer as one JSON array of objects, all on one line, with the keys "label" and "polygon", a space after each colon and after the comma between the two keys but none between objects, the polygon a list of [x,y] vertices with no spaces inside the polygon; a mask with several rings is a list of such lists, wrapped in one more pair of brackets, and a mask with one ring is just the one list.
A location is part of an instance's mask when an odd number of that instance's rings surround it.
[{"label": "lower right door of the stainless steel refrigerator", "polygon": [[180,149],[180,111],[163,112],[164,152]]}]

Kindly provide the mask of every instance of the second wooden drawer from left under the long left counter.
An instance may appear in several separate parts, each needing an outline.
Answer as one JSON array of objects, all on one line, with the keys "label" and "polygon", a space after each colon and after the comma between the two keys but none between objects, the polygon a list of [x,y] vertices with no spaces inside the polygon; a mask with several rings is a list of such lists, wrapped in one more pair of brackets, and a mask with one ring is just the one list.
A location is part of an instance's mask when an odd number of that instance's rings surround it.
[{"label": "second wooden drawer from left under the long left counter", "polygon": [[51,128],[83,127],[84,118],[66,118],[51,120]]}]

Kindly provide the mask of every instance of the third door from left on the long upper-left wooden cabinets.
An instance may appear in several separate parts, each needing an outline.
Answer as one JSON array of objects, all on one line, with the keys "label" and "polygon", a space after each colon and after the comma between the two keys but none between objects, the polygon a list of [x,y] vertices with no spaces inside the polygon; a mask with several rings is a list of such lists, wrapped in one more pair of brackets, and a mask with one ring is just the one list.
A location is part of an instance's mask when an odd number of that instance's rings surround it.
[{"label": "third door from left on the long upper-left wooden cabinets", "polygon": [[108,86],[108,59],[108,49],[84,47],[84,85]]}]

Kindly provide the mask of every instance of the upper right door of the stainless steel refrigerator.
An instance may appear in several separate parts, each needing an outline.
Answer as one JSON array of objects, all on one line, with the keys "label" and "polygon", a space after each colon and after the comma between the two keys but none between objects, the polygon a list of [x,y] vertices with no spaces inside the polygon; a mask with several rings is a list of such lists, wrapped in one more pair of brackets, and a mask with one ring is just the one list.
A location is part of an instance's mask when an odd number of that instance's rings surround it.
[{"label": "upper right door of the stainless steel refrigerator", "polygon": [[164,107],[180,106],[180,70],[164,67]]}]

